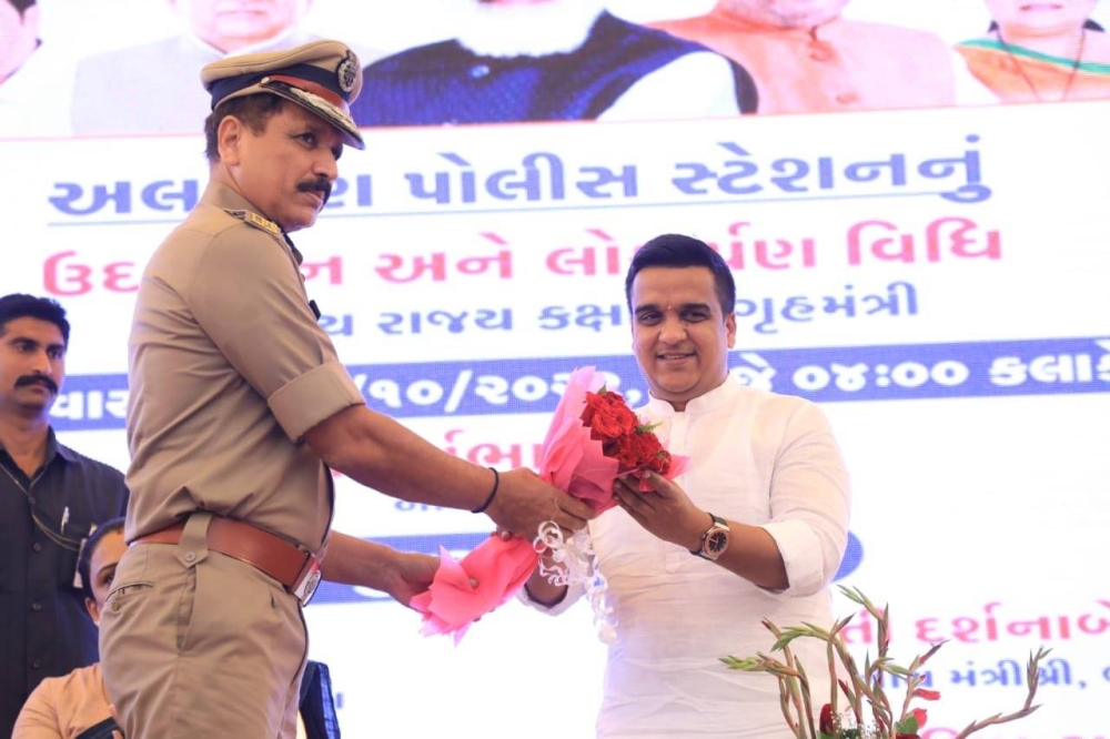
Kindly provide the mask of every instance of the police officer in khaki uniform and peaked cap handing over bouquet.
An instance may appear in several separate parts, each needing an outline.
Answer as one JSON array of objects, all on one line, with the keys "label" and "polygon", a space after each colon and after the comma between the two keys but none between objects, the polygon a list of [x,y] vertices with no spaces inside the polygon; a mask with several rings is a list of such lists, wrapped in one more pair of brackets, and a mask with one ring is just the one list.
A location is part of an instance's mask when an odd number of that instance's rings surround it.
[{"label": "police officer in khaki uniform and peaked cap handing over bouquet", "polygon": [[208,64],[210,183],[151,257],[130,341],[130,549],[101,621],[129,739],[292,737],[304,601],[325,579],[403,604],[437,559],[330,533],[329,467],[527,534],[588,507],[451,456],[370,411],[316,324],[287,232],[311,226],[361,64],[336,41]]}]

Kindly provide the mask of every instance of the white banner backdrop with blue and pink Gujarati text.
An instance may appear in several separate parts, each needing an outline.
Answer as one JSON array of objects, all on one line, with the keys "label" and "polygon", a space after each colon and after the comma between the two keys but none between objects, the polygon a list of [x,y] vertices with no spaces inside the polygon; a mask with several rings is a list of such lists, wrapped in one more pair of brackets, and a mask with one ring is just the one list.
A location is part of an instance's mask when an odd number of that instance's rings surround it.
[{"label": "white banner backdrop with blue and pink Gujarati text", "polygon": [[[638,20],[679,14],[677,2],[612,4]],[[149,0],[41,6],[44,33],[73,41],[73,54],[98,38],[77,32],[82,13],[103,28],[97,48],[133,39],[122,17],[148,38],[173,30]],[[390,3],[407,36],[375,26],[371,9],[315,0],[310,17],[383,50],[450,32],[446,0]],[[946,40],[986,24],[978,3],[857,0],[849,11]],[[431,22],[398,21],[405,12]],[[1045,644],[1057,660],[1045,708],[979,736],[1094,739],[1110,726],[1108,122],[1110,102],[1088,102],[372,131],[367,151],[344,154],[346,191],[294,240],[321,264],[306,270],[309,292],[371,406],[503,467],[533,464],[559,377],[576,366],[597,364],[642,397],[623,295],[635,247],[665,231],[715,243],[739,288],[730,366],[821,403],[844,447],[855,544],[840,581],[891,604],[904,661],[949,639],[930,662],[944,697],[922,736],[949,739],[1016,708],[1025,687],[1011,660]],[[0,141],[0,294],[52,295],[70,311],[56,425],[121,468],[132,291],[203,188],[201,149],[188,135]],[[528,171],[537,153],[549,156]],[[905,158],[904,185],[848,176],[894,155]],[[771,168],[788,159],[809,173],[776,182]],[[958,163],[926,176],[938,159]],[[741,161],[758,173],[730,191],[720,178]],[[632,174],[591,196],[579,186],[591,168]],[[533,199],[491,189],[507,171],[538,179]],[[450,196],[417,198],[413,182],[436,173]],[[912,255],[890,259],[906,243]],[[391,273],[394,259],[404,266]],[[340,479],[336,527],[462,554],[487,522]],[[592,736],[604,651],[586,606],[546,618],[508,604],[457,647],[418,636],[415,614],[374,594],[325,588],[306,613],[347,736]],[[866,649],[866,630],[854,635]]]}]

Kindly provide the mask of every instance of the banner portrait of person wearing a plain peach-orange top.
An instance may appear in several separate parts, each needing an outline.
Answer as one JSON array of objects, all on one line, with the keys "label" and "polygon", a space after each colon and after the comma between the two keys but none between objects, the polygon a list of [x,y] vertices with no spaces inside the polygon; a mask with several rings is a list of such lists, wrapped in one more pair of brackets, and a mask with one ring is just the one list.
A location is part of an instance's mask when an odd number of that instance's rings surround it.
[{"label": "banner portrait of person wearing a plain peach-orange top", "polygon": [[849,0],[719,0],[705,16],[652,23],[744,65],[759,114],[990,104],[940,37],[851,20]]}]

